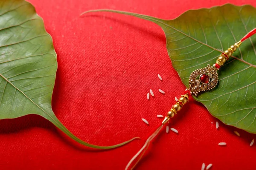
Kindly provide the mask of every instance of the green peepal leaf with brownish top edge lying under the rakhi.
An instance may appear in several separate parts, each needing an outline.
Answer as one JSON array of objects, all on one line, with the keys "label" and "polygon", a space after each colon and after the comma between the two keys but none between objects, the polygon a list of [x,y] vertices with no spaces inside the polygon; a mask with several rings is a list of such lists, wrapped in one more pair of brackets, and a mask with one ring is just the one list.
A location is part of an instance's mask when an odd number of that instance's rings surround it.
[{"label": "green peepal leaf with brownish top edge lying under the rakhi", "polygon": [[[109,11],[149,20],[166,34],[166,47],[181,81],[189,87],[189,76],[198,68],[213,65],[218,56],[256,27],[256,8],[226,4],[189,10],[174,20],[142,14]],[[93,11],[86,11],[93,12]],[[244,41],[218,71],[219,82],[211,91],[194,99],[227,125],[256,133],[256,35]]]}]

